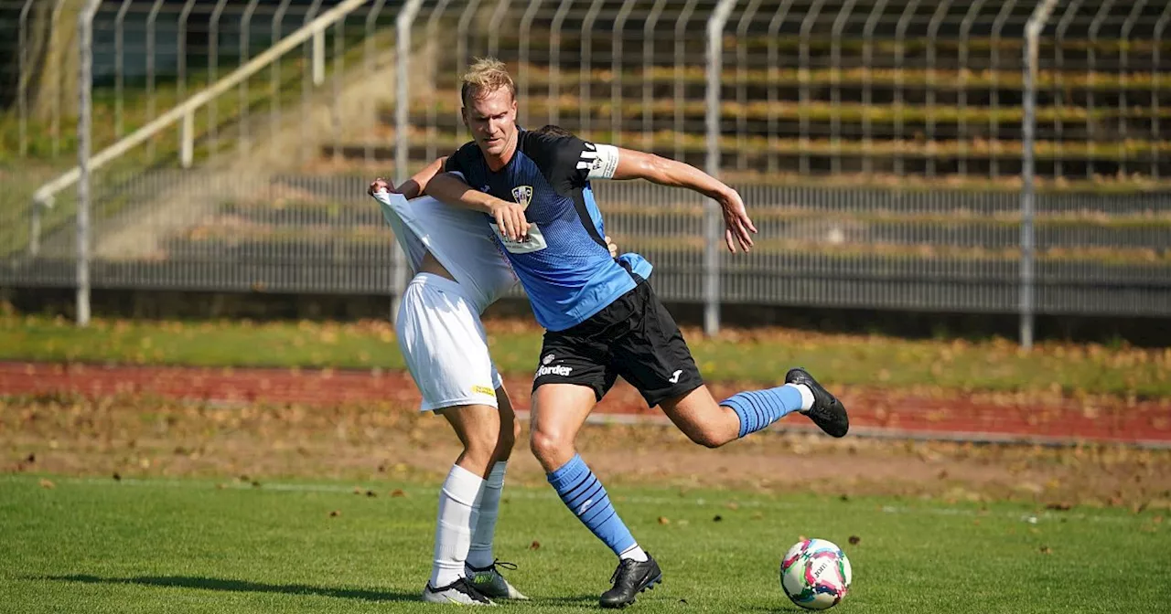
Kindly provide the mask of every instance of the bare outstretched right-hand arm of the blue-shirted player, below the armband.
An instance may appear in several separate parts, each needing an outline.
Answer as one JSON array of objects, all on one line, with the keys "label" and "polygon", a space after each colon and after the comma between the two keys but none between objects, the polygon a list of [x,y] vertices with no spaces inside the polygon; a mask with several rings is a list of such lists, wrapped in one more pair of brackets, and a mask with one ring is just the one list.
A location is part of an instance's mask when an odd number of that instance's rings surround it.
[{"label": "bare outstretched right-hand arm of the blue-shirted player, below the armband", "polygon": [[735,254],[735,246],[748,251],[752,249],[752,235],[756,227],[745,211],[744,200],[735,189],[719,179],[691,166],[636,150],[618,150],[618,164],[611,179],[645,179],[648,181],[671,187],[685,187],[717,201],[724,211],[724,241],[728,251]]}]

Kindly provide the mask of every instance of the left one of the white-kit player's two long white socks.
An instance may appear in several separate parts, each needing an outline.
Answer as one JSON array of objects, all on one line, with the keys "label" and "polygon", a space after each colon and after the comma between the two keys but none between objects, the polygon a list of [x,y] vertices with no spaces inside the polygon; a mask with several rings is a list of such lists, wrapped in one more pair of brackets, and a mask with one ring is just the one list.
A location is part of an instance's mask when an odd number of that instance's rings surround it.
[{"label": "left one of the white-kit player's two long white socks", "polygon": [[439,519],[431,566],[431,587],[439,588],[464,577],[467,549],[472,544],[475,506],[484,492],[484,478],[453,465],[439,491]]}]

